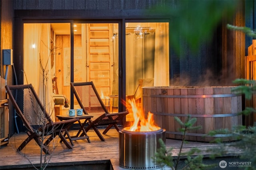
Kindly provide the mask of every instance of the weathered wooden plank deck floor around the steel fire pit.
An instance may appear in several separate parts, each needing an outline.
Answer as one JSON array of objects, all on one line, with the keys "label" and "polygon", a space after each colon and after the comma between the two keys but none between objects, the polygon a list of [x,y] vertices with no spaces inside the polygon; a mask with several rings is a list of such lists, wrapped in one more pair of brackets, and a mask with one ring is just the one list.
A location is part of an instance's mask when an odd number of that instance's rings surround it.
[{"label": "weathered wooden plank deck floor around the steel fire pit", "polygon": [[[102,132],[103,130],[100,129]],[[85,164],[109,164],[110,160],[118,160],[118,132],[115,129],[110,129],[107,135],[103,135],[106,139],[105,142],[100,141],[94,131],[89,131],[91,143],[88,143],[86,139],[74,141],[74,148],[67,149],[63,143],[54,142],[57,147],[46,158],[50,158],[51,166],[57,165],[76,165],[78,162]],[[14,169],[18,167],[30,167],[31,164],[40,163],[40,147],[34,140],[30,141],[26,145],[26,148],[22,150],[25,156],[16,152],[16,148],[26,139],[26,133],[20,133],[13,135],[8,145],[0,147],[0,169]],[[166,147],[174,147],[173,155],[176,156],[178,149],[180,148],[181,141],[166,139]],[[217,144],[189,142],[184,145],[184,151],[190,148],[198,147],[203,150],[202,153],[208,156],[210,153],[206,152],[208,148],[219,147]],[[239,154],[238,150],[231,149],[227,156]],[[43,154],[44,156],[45,154]],[[108,165],[107,165],[108,166]],[[64,169],[64,168],[63,168]]]}]

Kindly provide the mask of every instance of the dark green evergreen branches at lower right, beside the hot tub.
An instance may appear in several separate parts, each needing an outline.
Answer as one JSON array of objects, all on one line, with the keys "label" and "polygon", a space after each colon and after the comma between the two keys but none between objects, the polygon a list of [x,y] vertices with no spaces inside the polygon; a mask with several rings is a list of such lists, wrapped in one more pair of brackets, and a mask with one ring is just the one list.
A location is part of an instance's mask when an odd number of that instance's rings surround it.
[{"label": "dark green evergreen branches at lower right, beside the hot tub", "polygon": [[[256,81],[255,80],[246,80],[246,79],[236,79],[234,83],[240,84],[232,91],[237,94],[244,94],[245,98],[250,100],[252,99],[253,94],[256,93]],[[241,113],[243,115],[249,115],[254,113],[256,110],[252,107],[246,107]],[[209,135],[216,135],[216,134],[232,134],[236,137],[236,142],[226,144],[229,147],[234,147],[240,153],[241,161],[251,162],[251,166],[245,167],[246,170],[256,170],[256,124],[254,123],[253,126],[236,126],[232,127],[232,129],[219,129],[216,131],[211,131]],[[220,143],[220,139],[216,139],[214,142]],[[211,150],[214,151],[214,150]],[[224,147],[218,149],[218,153],[211,155],[212,158],[214,156],[221,156],[223,153],[226,153]]]}]

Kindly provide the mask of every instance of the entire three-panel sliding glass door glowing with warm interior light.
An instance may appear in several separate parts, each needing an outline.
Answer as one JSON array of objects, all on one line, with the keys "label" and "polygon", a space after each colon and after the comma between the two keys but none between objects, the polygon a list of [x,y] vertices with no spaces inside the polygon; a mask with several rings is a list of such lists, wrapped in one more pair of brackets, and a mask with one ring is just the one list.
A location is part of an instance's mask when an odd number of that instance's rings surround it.
[{"label": "entire three-panel sliding glass door glowing with warm interior light", "polygon": [[[52,110],[53,96],[63,95],[60,114],[65,114],[79,107],[70,82],[92,81],[109,111],[116,112],[122,72],[126,99],[142,104],[143,86],[169,86],[169,23],[127,22],[124,35],[118,30],[119,23],[24,23],[24,84],[31,83]],[[119,39],[125,39],[125,54],[118,50]],[[126,65],[120,71],[122,58]]]}]

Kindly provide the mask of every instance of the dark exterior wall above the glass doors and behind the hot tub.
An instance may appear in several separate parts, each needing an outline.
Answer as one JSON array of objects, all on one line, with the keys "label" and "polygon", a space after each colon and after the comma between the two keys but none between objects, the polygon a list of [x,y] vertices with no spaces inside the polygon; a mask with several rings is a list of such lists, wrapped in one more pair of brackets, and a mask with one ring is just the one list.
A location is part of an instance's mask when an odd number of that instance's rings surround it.
[{"label": "dark exterior wall above the glass doors and behind the hot tub", "polygon": [[[101,21],[140,21],[142,19],[170,21],[170,10],[156,12],[157,8],[175,8],[178,0],[15,0],[14,11],[18,26],[16,31],[22,31],[21,20],[86,20],[91,22]],[[234,24],[244,25],[243,6],[239,9]],[[183,49],[175,54],[170,49],[170,78],[179,80],[180,85],[196,85],[201,79],[210,78],[208,83],[214,82],[232,84],[235,78],[244,77],[244,36],[224,32],[226,22],[222,22],[215,31],[214,37],[207,44],[201,45],[196,53],[189,51],[186,40],[180,39]],[[22,32],[18,33],[22,34]],[[172,32],[170,32],[170,36]],[[239,45],[240,53],[234,47]],[[226,48],[223,48],[226,47]],[[171,48],[171,46],[170,46]],[[22,49],[19,47],[22,54]],[[124,54],[124,53],[123,53]],[[18,54],[16,54],[18,56]],[[233,59],[230,59],[234,57]],[[232,66],[230,69],[229,66]],[[227,71],[228,70],[228,71]],[[224,74],[223,74],[224,73]],[[208,75],[206,75],[208,74]],[[177,79],[176,79],[177,78]],[[189,80],[188,80],[189,78]],[[175,79],[175,80],[174,80]],[[219,80],[219,82],[216,82]],[[216,84],[208,84],[216,85]]]}]

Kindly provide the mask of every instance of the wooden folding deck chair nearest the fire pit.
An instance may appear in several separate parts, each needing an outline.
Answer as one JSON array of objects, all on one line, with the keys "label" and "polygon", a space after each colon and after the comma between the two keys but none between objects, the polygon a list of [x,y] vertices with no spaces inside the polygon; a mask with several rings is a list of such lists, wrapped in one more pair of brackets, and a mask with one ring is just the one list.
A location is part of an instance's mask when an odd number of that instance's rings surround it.
[{"label": "wooden folding deck chair nearest the fire pit", "polygon": [[106,134],[112,126],[114,126],[117,131],[120,130],[118,127],[118,122],[128,114],[128,111],[109,113],[93,82],[71,82],[70,84],[78,104],[83,109],[84,113],[93,116],[92,119],[88,121],[86,132],[93,128],[98,137],[102,141],[105,141],[104,137],[97,129],[98,126],[108,125],[108,127],[106,127],[106,129],[103,131],[103,134]]}]

